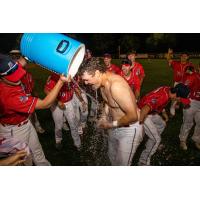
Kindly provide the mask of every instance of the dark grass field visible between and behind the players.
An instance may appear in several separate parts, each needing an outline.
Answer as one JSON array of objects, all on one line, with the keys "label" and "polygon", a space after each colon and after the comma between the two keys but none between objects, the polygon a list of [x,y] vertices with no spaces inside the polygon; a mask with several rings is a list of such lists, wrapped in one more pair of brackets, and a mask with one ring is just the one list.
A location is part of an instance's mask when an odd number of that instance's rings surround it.
[{"label": "dark grass field visible between and behind the players", "polygon": [[[199,59],[191,60],[194,64],[199,63]],[[119,64],[119,60],[113,61]],[[138,60],[145,69],[145,80],[142,87],[142,95],[162,86],[172,86],[172,70],[167,66],[166,60],[162,59],[142,59]],[[33,74],[35,80],[35,89],[40,98],[45,95],[43,87],[50,72],[41,67],[30,67],[29,71]],[[169,106],[168,106],[169,107]],[[168,110],[167,110],[168,111]],[[88,123],[87,133],[83,138],[83,150],[77,152],[73,147],[73,142],[69,132],[63,131],[63,149],[57,151],[54,147],[54,123],[50,110],[37,111],[38,118],[46,130],[45,134],[39,135],[40,142],[47,159],[52,165],[56,166],[77,166],[77,165],[108,165],[105,149],[105,140],[102,134],[95,127]],[[177,111],[175,118],[170,119],[165,131],[162,133],[163,148],[152,158],[152,165],[158,166],[182,166],[182,165],[200,165],[200,151],[197,150],[188,140],[188,150],[186,152],[179,149],[178,134],[182,123],[182,110]],[[192,130],[193,131],[193,130]],[[192,132],[191,131],[191,132]],[[133,165],[137,164],[141,151],[144,148],[144,142],[138,148],[133,159]]]}]

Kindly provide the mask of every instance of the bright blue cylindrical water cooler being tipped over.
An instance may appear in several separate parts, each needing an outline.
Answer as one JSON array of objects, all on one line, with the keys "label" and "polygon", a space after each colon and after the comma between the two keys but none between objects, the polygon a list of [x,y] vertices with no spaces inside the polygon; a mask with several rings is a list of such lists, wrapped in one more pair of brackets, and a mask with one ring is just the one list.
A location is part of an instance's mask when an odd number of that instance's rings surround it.
[{"label": "bright blue cylindrical water cooler being tipped over", "polygon": [[59,33],[25,33],[20,51],[50,71],[73,77],[83,61],[85,45]]}]

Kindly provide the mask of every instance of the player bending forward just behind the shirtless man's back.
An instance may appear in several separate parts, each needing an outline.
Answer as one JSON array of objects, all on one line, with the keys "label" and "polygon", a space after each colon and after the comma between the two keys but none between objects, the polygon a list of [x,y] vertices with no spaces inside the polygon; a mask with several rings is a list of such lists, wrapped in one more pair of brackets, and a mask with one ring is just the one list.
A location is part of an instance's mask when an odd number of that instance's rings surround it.
[{"label": "player bending forward just behind the shirtless man's back", "polygon": [[162,86],[148,93],[138,102],[138,107],[141,109],[140,123],[144,123],[144,131],[148,136],[146,148],[140,156],[138,165],[150,165],[151,157],[160,144],[161,133],[164,131],[168,121],[164,109],[170,99],[189,104],[189,99],[186,99],[189,92],[189,88],[182,83],[174,88]]}]

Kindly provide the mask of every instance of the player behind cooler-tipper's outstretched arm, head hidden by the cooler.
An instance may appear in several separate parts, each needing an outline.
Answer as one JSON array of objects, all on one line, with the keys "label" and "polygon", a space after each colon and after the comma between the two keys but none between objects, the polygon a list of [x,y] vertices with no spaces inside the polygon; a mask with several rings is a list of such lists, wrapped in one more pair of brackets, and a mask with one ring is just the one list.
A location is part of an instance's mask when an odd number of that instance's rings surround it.
[{"label": "player behind cooler-tipper's outstretched arm, head hidden by the cooler", "polygon": [[[53,73],[47,80],[45,85],[45,93],[48,94],[59,81],[59,76]],[[70,127],[71,136],[74,141],[74,145],[77,150],[81,148],[81,139],[78,133],[80,124],[79,107],[75,103],[75,85],[70,81],[64,84],[58,94],[57,102],[51,107],[53,120],[55,123],[55,141],[56,148],[60,150],[62,148],[62,128],[63,118],[67,119]],[[80,97],[82,98],[82,97]],[[84,100],[82,99],[82,102]]]}]

